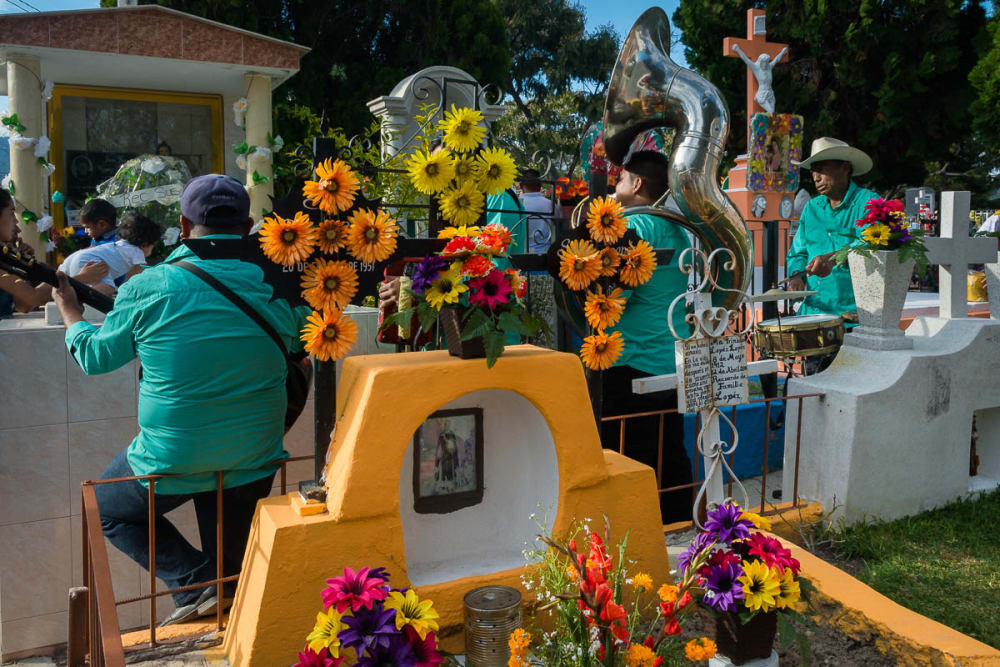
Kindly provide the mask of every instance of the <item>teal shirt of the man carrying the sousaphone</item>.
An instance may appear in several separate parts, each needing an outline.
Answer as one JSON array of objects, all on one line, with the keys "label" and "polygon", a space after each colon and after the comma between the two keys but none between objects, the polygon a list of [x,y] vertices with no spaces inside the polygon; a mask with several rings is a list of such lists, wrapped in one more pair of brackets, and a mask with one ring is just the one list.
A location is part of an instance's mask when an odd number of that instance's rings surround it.
[{"label": "teal shirt of the man carrying the sousaphone", "polygon": [[[671,302],[687,291],[687,276],[677,267],[680,253],[690,246],[684,230],[665,218],[653,215],[628,215],[628,226],[654,248],[674,248],[673,259],[660,264],[653,277],[644,285],[625,292],[625,312],[618,324],[608,327],[608,332],[621,331],[625,349],[615,366],[631,366],[651,375],[665,375],[675,371],[674,341],[670,333],[668,313]],[[685,303],[674,308],[674,329],[684,336],[688,326],[684,322]]]}]

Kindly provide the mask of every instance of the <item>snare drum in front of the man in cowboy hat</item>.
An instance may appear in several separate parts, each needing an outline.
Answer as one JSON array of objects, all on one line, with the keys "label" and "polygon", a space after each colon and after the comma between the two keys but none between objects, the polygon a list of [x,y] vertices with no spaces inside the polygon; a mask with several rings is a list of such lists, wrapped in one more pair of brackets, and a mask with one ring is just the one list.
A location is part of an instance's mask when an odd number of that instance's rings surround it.
[{"label": "snare drum in front of the man in cowboy hat", "polygon": [[837,315],[795,315],[764,320],[753,332],[754,346],[771,357],[830,354],[844,342],[844,319]]}]

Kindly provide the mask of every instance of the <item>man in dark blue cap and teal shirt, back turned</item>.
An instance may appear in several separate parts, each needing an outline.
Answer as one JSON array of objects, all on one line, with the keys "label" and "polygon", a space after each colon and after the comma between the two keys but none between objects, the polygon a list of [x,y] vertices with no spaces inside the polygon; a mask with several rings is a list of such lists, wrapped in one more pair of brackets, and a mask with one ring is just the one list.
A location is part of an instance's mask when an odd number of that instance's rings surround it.
[{"label": "man in dark blue cap and teal shirt, back turned", "polygon": [[[228,176],[191,180],[181,196],[183,238],[240,238],[249,233],[250,198]],[[302,349],[298,333],[307,310],[271,301],[263,271],[236,259],[202,260],[185,245],[122,285],[101,328],[83,310],[65,277],[55,301],[66,323],[66,345],[88,375],[107,373],[137,356],[139,434],[102,479],[170,474],[155,482],[156,574],[171,588],[216,576],[216,474],[223,475],[223,572],[240,570],[257,501],[271,490],[282,447],[286,407],[285,357],[276,341],[187,262],[235,292],[274,329],[288,352]],[[148,489],[137,481],[99,485],[104,534],[118,549],[149,563]],[[194,501],[201,550],[163,515]],[[214,613],[215,587],[174,595],[164,625]]]}]

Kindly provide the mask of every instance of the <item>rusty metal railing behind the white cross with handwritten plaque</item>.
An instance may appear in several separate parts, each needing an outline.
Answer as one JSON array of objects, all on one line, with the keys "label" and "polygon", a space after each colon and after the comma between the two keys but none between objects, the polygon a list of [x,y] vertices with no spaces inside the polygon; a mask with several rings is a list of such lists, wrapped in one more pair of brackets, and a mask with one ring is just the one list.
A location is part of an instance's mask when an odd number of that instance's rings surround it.
[{"label": "rusty metal railing behind the white cross with handwritten plaque", "polygon": [[[768,447],[771,440],[771,404],[777,401],[782,403],[782,408],[787,413],[788,402],[795,401],[798,404],[798,419],[796,420],[795,429],[795,473],[793,476],[793,488],[792,488],[792,507],[798,507],[799,504],[799,451],[802,444],[802,410],[803,410],[803,399],[806,398],[818,398],[825,394],[822,393],[811,393],[811,394],[796,394],[794,396],[778,396],[776,398],[764,398],[754,400],[750,404],[745,404],[743,406],[734,405],[730,409],[730,421],[733,423],[733,428],[736,428],[736,414],[737,409],[740,407],[746,407],[746,405],[752,405],[755,403],[764,403],[764,452],[761,461],[761,484],[760,484],[760,505],[756,508],[746,508],[748,511],[753,511],[757,514],[773,514],[775,510],[767,509],[767,474],[768,474]],[[632,414],[624,415],[611,415],[608,417],[602,417],[601,422],[618,422],[618,453],[625,455],[625,424],[630,419],[635,419],[639,417],[653,417],[659,416],[659,427],[657,435],[657,455],[656,455],[656,468],[654,469],[656,473],[656,488],[659,490],[660,495],[664,493],[670,493],[672,491],[682,491],[684,489],[691,489],[691,502],[692,505],[697,499],[698,488],[702,485],[704,480],[698,478],[698,468],[701,464],[700,457],[698,456],[697,448],[695,449],[695,455],[692,457],[691,461],[691,479],[692,482],[686,484],[678,484],[675,486],[663,487],[661,486],[663,479],[663,421],[664,415],[677,414],[676,408],[671,408],[667,410],[653,410],[650,412],[635,412]],[[697,433],[700,429],[701,416],[696,415],[695,417],[695,428],[694,431]],[[729,467],[732,468],[735,459],[735,452],[729,455]],[[729,476],[728,488],[726,495],[732,497],[733,495],[733,477]]]}]

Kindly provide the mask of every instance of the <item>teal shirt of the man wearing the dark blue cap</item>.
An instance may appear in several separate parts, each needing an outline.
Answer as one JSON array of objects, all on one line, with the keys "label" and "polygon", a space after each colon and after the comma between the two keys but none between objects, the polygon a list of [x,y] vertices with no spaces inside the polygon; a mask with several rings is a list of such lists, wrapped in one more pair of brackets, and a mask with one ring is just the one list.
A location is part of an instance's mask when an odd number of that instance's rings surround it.
[{"label": "teal shirt of the man wearing the dark blue cap", "polygon": [[[211,238],[234,238],[218,236]],[[308,309],[269,302],[263,271],[239,260],[201,260],[180,245],[167,261],[185,259],[215,276],[257,310],[287,349],[302,349]],[[285,360],[278,346],[194,274],[166,263],[121,287],[100,328],[77,322],[66,330],[70,354],[88,375],[139,357],[139,435],[128,448],[137,475],[182,473],[156,483],[159,493],[228,487],[270,475],[265,463],[284,458]],[[203,473],[203,474],[192,474]]]}]

